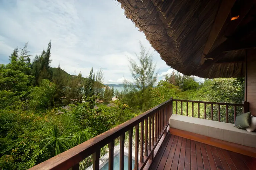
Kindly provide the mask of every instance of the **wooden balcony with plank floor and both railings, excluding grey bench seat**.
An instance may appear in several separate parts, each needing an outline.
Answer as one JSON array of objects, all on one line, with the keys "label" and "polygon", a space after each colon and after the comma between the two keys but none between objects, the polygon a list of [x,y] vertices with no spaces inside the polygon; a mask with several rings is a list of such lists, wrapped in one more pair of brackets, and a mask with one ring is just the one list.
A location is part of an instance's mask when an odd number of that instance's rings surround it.
[{"label": "wooden balcony with plank floor and both railings, excluding grey bench seat", "polygon": [[[200,110],[202,106],[203,113]],[[225,114],[222,114],[223,110]],[[255,148],[200,136],[169,126],[169,118],[172,114],[233,123],[237,114],[242,114],[242,110],[248,110],[248,103],[232,104],[171,98],[119,126],[32,167],[31,170],[79,170],[79,162],[90,155],[93,159],[92,169],[99,170],[102,167],[100,149],[105,145],[109,148],[108,169],[112,170],[115,139],[120,141],[118,151],[121,170],[124,169],[125,156],[128,156],[126,163],[128,170],[132,170],[133,167],[135,170],[255,169]],[[125,141],[128,142],[127,149]],[[226,150],[226,148],[230,149]]]}]

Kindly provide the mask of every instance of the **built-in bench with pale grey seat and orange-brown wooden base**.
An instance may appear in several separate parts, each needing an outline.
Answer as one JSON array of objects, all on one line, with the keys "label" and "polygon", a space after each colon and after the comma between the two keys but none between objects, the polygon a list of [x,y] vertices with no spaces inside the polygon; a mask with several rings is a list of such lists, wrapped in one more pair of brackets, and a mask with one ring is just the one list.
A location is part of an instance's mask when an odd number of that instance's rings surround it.
[{"label": "built-in bench with pale grey seat and orange-brown wooden base", "polygon": [[223,149],[256,157],[256,132],[224,123],[173,114],[170,133]]}]

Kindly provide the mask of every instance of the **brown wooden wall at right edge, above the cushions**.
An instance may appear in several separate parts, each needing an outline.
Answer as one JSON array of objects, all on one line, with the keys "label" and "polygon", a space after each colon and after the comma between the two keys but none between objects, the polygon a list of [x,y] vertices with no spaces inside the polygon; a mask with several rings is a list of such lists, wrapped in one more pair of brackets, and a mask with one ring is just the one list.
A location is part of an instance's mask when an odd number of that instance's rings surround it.
[{"label": "brown wooden wall at right edge, above the cushions", "polygon": [[256,49],[247,50],[247,102],[252,115],[256,116]]}]

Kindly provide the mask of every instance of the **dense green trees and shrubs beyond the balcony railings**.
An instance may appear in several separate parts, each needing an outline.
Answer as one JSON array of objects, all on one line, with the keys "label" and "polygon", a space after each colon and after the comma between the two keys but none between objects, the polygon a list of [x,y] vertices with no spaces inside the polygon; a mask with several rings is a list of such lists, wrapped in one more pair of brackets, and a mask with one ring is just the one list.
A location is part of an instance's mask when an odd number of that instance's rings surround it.
[{"label": "dense green trees and shrubs beyond the balcony railings", "polygon": [[[241,103],[242,78],[198,83],[179,73],[156,86],[152,55],[141,46],[139,63],[129,59],[135,84],[124,91],[104,87],[102,70],[88,78],[50,67],[51,42],[30,61],[27,44],[0,65],[0,169],[27,169],[148,110],[170,97]],[[105,89],[103,89],[103,87]],[[119,100],[111,101],[112,96]],[[209,111],[208,111],[209,112]],[[230,114],[232,108],[230,108]],[[232,114],[231,114],[232,119]],[[104,154],[106,149],[102,149]],[[84,169],[91,157],[80,164]]]}]

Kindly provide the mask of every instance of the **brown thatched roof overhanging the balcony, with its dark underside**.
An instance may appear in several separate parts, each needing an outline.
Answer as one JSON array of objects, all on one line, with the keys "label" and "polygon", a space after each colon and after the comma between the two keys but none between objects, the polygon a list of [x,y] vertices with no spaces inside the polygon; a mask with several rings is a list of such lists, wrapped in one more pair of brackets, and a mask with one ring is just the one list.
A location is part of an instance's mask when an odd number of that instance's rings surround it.
[{"label": "brown thatched roof overhanging the balcony, with its dark underside", "polygon": [[248,43],[255,40],[254,1],[118,1],[127,18],[177,71],[203,78],[244,76],[244,49],[255,47]]}]

